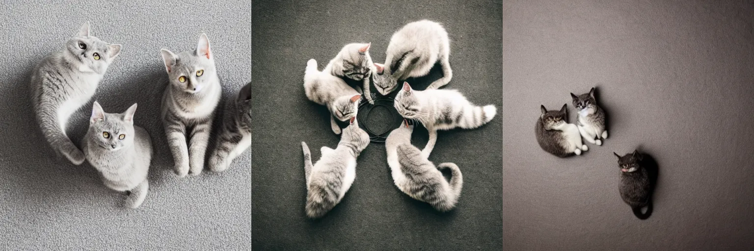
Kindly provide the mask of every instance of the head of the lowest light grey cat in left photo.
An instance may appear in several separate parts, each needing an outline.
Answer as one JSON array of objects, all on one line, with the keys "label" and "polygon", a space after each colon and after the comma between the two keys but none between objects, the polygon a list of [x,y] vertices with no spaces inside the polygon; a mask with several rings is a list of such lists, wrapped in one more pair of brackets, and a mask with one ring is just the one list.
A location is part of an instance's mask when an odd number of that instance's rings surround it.
[{"label": "head of the lowest light grey cat in left photo", "polygon": [[[106,113],[97,101],[92,106],[92,115],[89,120],[90,147],[101,147],[109,151],[118,151],[126,146],[133,145],[133,113],[136,112],[136,104],[133,104],[124,113]],[[94,144],[94,145],[92,145]]]}]

